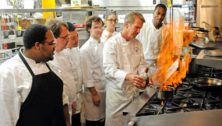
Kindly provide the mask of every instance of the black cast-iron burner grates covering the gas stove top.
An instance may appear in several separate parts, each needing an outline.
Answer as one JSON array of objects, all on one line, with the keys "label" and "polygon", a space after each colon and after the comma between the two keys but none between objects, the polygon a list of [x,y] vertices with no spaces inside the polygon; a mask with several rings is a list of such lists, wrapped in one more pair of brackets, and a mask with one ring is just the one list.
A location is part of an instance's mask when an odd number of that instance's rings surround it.
[{"label": "black cast-iron burner grates covering the gas stove top", "polygon": [[[209,96],[209,95],[208,95]],[[177,112],[201,111],[203,109],[222,108],[221,101],[215,97],[207,97],[205,92],[197,91],[191,85],[181,86],[176,90],[172,98],[159,100],[155,95],[140,109],[136,116],[159,115]]]}]

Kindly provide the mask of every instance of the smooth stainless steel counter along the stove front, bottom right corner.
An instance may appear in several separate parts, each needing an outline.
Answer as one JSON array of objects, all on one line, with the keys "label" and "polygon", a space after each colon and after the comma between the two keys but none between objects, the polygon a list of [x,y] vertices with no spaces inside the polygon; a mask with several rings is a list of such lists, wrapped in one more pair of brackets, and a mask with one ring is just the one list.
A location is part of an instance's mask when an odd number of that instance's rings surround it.
[{"label": "smooth stainless steel counter along the stove front, bottom right corner", "polygon": [[[141,116],[134,121],[136,126],[221,126],[222,110]],[[128,126],[131,124],[133,122],[129,122]]]}]

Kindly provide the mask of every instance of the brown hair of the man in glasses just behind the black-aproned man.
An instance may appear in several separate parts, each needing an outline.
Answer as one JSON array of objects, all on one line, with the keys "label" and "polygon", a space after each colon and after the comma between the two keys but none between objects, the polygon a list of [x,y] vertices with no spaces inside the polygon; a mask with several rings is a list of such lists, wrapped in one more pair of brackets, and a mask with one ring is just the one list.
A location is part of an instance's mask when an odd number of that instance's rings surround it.
[{"label": "brown hair of the man in glasses just behind the black-aproned man", "polygon": [[47,20],[46,24],[45,24],[49,29],[52,30],[55,38],[59,38],[60,36],[60,28],[62,26],[66,27],[68,29],[68,26],[65,22],[59,21],[57,19],[49,19]]}]

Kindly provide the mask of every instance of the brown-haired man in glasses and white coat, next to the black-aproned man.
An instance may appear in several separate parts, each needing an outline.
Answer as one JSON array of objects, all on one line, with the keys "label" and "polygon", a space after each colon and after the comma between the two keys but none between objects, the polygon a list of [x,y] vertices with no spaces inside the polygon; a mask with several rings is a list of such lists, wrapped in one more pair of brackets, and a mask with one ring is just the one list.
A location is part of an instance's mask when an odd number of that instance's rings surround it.
[{"label": "brown-haired man in glasses and white coat, next to the black-aproned man", "polygon": [[69,42],[69,30],[68,25],[65,22],[49,19],[46,22],[46,26],[49,27],[55,36],[55,56],[54,60],[49,63],[55,70],[60,70],[63,73],[64,78],[64,92],[68,96],[68,104],[64,104],[64,114],[67,126],[71,126],[70,115],[72,114],[72,104],[76,102],[76,85],[72,62],[67,57],[66,48]]}]

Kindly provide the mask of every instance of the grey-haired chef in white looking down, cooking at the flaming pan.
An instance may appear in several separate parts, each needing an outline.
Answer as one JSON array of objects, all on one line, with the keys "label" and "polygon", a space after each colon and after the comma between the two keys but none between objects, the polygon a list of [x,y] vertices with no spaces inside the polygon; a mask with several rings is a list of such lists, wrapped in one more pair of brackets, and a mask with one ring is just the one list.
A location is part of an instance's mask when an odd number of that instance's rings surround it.
[{"label": "grey-haired chef in white looking down, cooking at the flaming pan", "polygon": [[142,44],[135,39],[145,22],[139,12],[126,15],[123,30],[104,45],[103,66],[106,76],[105,126],[124,126],[123,109],[144,89],[144,79],[137,75],[145,71]]}]

